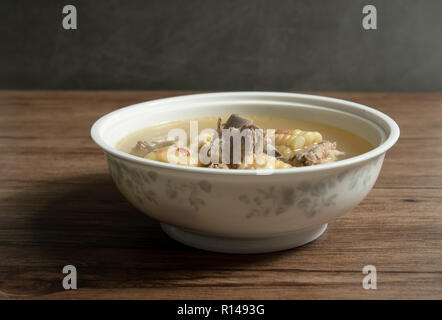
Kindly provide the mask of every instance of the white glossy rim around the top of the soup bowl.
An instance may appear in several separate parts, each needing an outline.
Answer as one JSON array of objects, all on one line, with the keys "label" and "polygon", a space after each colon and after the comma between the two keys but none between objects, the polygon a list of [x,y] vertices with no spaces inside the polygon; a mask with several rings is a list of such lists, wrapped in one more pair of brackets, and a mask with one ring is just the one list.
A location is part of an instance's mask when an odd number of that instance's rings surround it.
[{"label": "white glossy rim around the top of the soup bowl", "polygon": [[[112,117],[115,117],[119,114],[122,114],[123,112],[127,112],[129,110],[135,109],[140,107],[141,105],[149,105],[149,104],[158,104],[158,103],[170,103],[170,102],[179,102],[180,100],[187,100],[191,98],[199,98],[199,97],[213,97],[213,98],[225,98],[227,96],[248,96],[248,95],[254,95],[256,99],[259,99],[259,97],[291,97],[291,98],[312,98],[316,99],[318,102],[329,102],[329,103],[339,103],[339,104],[345,104],[346,106],[353,107],[355,109],[364,111],[365,113],[377,116],[384,120],[389,129],[390,133],[387,135],[385,141],[383,141],[380,145],[373,148],[372,150],[365,152],[363,154],[321,165],[316,166],[306,166],[306,167],[297,167],[294,168],[287,168],[287,169],[235,169],[235,170],[221,170],[221,169],[213,169],[213,168],[205,168],[205,167],[190,167],[190,166],[183,166],[183,165],[177,165],[177,164],[171,164],[171,163],[165,163],[160,161],[154,161],[149,159],[140,158],[131,154],[128,154],[123,151],[117,150],[115,147],[110,146],[107,144],[104,139],[100,135],[100,128],[106,123],[107,120],[109,120]],[[363,116],[359,115],[360,117],[364,118]],[[366,118],[365,118],[366,119]],[[366,119],[368,120],[368,119]],[[374,122],[373,120],[369,120],[370,122]],[[344,168],[348,167],[354,164],[358,164],[361,162],[364,162],[366,160],[370,160],[373,158],[376,158],[383,153],[385,153],[387,150],[389,150],[399,139],[400,130],[397,123],[387,116],[385,113],[378,111],[374,108],[365,106],[363,104],[359,104],[356,102],[343,100],[343,99],[337,99],[337,98],[331,98],[321,95],[313,95],[313,94],[303,94],[303,93],[289,93],[289,92],[274,92],[274,91],[226,91],[226,92],[214,92],[214,93],[197,93],[197,94],[186,94],[186,95],[180,95],[180,96],[174,96],[174,97],[168,97],[168,98],[160,98],[160,99],[153,99],[148,100],[140,103],[136,103],[133,105],[129,105],[126,107],[119,108],[117,110],[114,110],[112,112],[109,112],[105,114],[104,116],[100,117],[98,120],[94,122],[94,124],[91,127],[90,131],[92,140],[106,153],[109,153],[117,158],[127,160],[129,162],[141,164],[141,165],[148,165],[152,167],[158,167],[163,169],[170,169],[170,170],[178,170],[182,172],[194,172],[194,173],[200,173],[200,174],[221,174],[221,175],[279,175],[279,174],[296,174],[296,173],[305,173],[305,172],[319,172],[324,170],[332,170],[336,168]],[[123,139],[123,137],[122,137]]]}]

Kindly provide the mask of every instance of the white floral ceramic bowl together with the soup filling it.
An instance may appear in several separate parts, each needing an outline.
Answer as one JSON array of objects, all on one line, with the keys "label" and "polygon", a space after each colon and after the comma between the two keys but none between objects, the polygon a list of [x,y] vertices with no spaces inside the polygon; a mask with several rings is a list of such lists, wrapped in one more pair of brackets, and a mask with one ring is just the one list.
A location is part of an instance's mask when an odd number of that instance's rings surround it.
[{"label": "white floral ceramic bowl together with the soup filling it", "polygon": [[316,239],[362,201],[399,128],[344,100],[227,92],[125,107],[91,135],[121,193],[170,237],[262,253]]}]

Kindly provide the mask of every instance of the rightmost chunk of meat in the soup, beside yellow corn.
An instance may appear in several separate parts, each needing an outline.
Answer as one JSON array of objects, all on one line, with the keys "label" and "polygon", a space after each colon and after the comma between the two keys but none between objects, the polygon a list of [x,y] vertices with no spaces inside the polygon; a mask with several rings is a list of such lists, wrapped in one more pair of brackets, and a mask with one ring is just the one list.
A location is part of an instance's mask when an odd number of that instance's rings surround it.
[{"label": "rightmost chunk of meat in the soup, beside yellow corn", "polygon": [[295,167],[312,166],[335,161],[336,157],[344,154],[336,150],[336,142],[322,141],[304,152],[297,153],[289,163]]}]

